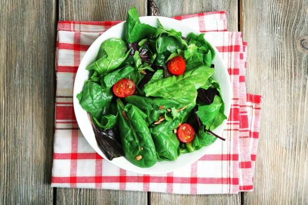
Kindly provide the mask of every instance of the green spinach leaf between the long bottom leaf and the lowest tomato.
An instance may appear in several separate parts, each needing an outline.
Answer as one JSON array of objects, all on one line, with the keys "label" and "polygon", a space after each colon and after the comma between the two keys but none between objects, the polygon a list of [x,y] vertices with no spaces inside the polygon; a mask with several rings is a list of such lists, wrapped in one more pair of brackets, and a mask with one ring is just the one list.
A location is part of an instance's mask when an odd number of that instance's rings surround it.
[{"label": "green spinach leaf between the long bottom leaf and the lowest tomato", "polygon": [[173,130],[179,126],[179,120],[163,121],[150,129],[158,158],[161,160],[176,160],[180,141]]}]

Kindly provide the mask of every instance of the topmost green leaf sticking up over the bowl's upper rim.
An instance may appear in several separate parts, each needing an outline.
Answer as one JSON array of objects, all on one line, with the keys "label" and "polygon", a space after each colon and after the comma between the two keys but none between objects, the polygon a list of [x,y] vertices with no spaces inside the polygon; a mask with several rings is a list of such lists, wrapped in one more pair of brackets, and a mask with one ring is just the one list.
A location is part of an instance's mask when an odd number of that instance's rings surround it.
[{"label": "topmost green leaf sticking up over the bowl's upper rim", "polygon": [[156,28],[148,24],[140,23],[136,7],[133,7],[128,10],[125,33],[127,43],[140,41],[151,34],[155,34],[155,32]]}]

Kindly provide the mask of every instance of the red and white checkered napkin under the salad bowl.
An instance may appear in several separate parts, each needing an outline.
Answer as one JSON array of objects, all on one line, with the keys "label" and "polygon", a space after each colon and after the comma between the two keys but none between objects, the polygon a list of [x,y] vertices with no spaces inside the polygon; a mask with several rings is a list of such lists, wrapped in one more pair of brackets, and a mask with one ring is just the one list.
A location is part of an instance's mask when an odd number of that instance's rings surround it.
[{"label": "red and white checkered napkin under the salad bowl", "polygon": [[167,174],[142,175],[116,167],[88,144],[73,110],[73,83],[92,42],[119,22],[59,22],[52,186],[181,194],[251,191],[259,135],[261,96],[246,94],[246,43],[228,32],[226,13],[175,17],[201,32],[221,53],[233,87],[230,117],[222,137],[195,163]]}]

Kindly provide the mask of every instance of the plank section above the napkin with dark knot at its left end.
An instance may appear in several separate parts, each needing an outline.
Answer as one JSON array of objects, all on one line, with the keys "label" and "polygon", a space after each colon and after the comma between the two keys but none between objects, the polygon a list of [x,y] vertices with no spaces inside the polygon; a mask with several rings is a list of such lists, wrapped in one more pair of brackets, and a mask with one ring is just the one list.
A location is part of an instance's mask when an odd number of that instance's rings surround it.
[{"label": "plank section above the napkin with dark knot at its left end", "polygon": [[[228,30],[238,30],[237,0],[152,0],[160,16],[172,17],[209,11],[226,11]],[[151,5],[151,4],[150,4]],[[153,9],[149,8],[151,12]],[[152,15],[152,13],[150,13]]]}]

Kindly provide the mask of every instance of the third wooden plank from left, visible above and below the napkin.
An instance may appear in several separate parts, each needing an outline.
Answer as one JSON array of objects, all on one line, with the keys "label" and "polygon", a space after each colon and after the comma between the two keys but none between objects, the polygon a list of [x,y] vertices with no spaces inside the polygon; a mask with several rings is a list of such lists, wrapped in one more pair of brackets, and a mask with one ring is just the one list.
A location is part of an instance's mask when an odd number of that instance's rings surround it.
[{"label": "third wooden plank from left, visible above and below the napkin", "polygon": [[[160,16],[179,16],[193,13],[201,13],[208,11],[224,10],[228,14],[228,29],[232,31],[238,30],[238,7],[237,0],[150,0],[150,14],[158,13]],[[229,204],[240,205],[241,195],[179,195],[168,193],[151,193],[151,205],[208,205]]]}]

